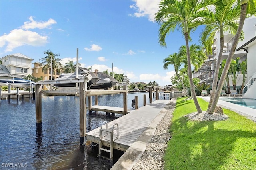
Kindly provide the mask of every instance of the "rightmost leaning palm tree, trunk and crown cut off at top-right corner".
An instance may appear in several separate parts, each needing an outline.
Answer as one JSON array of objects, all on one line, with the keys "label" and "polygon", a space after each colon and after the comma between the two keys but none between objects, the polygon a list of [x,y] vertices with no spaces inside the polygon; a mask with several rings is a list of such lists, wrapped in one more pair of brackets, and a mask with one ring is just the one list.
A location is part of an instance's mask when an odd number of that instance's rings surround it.
[{"label": "rightmost leaning palm tree, trunk and crown cut off at top-right corner", "polygon": [[[236,5],[236,4],[234,4],[234,5]],[[256,6],[255,6],[254,0],[241,0],[240,1],[239,26],[238,26],[236,35],[234,37],[234,41],[232,43],[230,53],[228,54],[228,58],[226,60],[226,64],[224,66],[223,72],[220,76],[220,81],[219,81],[219,84],[218,84],[218,87],[217,87],[217,90],[216,90],[216,95],[214,96],[214,100],[212,101],[210,109],[208,109],[207,113],[212,114],[216,105],[217,105],[217,103],[218,103],[218,99],[220,97],[220,93],[221,93],[222,86],[223,86],[224,81],[225,81],[225,77],[228,73],[228,69],[229,69],[231,61],[233,59],[234,52],[236,50],[236,46],[238,44],[238,41],[239,41],[241,33],[242,33],[242,29],[243,29],[243,26],[244,26],[244,20],[245,20],[247,14],[250,14],[250,15],[255,14],[256,13],[255,9],[256,9]]]}]

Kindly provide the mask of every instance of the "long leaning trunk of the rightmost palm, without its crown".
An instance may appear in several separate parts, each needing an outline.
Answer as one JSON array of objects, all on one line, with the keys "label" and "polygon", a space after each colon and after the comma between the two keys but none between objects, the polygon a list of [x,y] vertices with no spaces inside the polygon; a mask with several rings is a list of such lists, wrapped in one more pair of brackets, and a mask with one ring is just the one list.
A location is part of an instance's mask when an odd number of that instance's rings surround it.
[{"label": "long leaning trunk of the rightmost palm, without its crown", "polygon": [[234,41],[232,43],[230,53],[228,54],[226,64],[225,64],[223,72],[221,74],[219,85],[218,85],[218,88],[216,90],[216,95],[214,96],[214,100],[212,102],[212,106],[210,107],[210,109],[208,111],[209,114],[213,113],[213,111],[214,111],[214,109],[215,109],[215,107],[218,103],[218,100],[219,100],[219,97],[220,97],[220,92],[222,90],[222,86],[224,84],[226,75],[228,74],[228,69],[229,69],[229,66],[232,62],[232,59],[233,59],[233,56],[234,56],[234,53],[235,53],[235,50],[236,50],[236,46],[238,44],[238,40],[239,40],[239,37],[241,35],[243,26],[244,26],[244,20],[246,18],[246,8],[247,8],[247,3],[244,3],[244,4],[241,5],[241,13],[240,13],[240,20],[239,20],[238,30],[237,30],[236,35],[234,37]]}]

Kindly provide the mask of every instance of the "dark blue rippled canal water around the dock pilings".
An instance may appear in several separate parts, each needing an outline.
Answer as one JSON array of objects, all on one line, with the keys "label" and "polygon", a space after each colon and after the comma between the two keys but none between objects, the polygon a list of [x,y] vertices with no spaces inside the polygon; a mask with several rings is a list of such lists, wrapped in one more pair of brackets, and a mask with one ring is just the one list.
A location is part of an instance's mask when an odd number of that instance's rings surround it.
[{"label": "dark blue rippled canal water around the dock pilings", "polygon": [[[143,95],[129,93],[128,109],[134,96],[138,96],[139,107],[143,106]],[[154,100],[154,99],[153,99]],[[92,97],[94,104],[94,97]],[[123,94],[98,96],[102,106],[123,107]],[[89,115],[87,131],[112,121],[122,115],[107,117],[106,113]],[[121,156],[122,153],[117,153]],[[98,150],[90,143],[80,146],[79,98],[75,96],[42,97],[42,130],[36,130],[35,100],[12,99],[0,102],[0,169],[30,170],[108,170],[112,163],[98,158]],[[114,162],[118,160],[114,156]]]}]

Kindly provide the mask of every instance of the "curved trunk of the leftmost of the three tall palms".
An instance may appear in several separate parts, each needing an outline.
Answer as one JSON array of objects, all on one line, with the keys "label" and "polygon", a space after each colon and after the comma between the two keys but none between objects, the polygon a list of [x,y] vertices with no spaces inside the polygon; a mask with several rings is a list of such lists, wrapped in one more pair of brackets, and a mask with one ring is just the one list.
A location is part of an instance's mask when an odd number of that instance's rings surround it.
[{"label": "curved trunk of the leftmost of the three tall palms", "polygon": [[187,59],[188,59],[188,79],[191,89],[191,96],[194,100],[194,104],[196,106],[196,110],[198,113],[202,113],[202,109],[198,103],[198,100],[196,98],[196,91],[193,83],[193,77],[192,77],[192,70],[191,70],[191,61],[190,61],[190,52],[189,52],[189,45],[188,45],[188,32],[185,32],[185,41],[186,41],[186,47],[187,47]]}]

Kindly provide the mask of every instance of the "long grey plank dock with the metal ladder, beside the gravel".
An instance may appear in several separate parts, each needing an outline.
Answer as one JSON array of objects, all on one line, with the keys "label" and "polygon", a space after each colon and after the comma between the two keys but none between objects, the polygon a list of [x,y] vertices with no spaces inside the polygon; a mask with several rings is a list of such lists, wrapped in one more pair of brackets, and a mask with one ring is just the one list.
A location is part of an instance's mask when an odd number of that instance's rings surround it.
[{"label": "long grey plank dock with the metal ladder, beside the gravel", "polygon": [[[117,123],[119,127],[119,137],[114,140],[114,149],[126,151],[140,135],[148,128],[150,123],[157,117],[158,113],[168,104],[170,100],[156,100],[146,106],[140,107],[138,110],[115,119],[108,123],[108,129],[112,129],[112,126]],[[102,107],[102,106],[101,106]],[[122,109],[122,108],[121,108]],[[88,141],[99,143],[100,139],[100,127],[86,133]],[[106,124],[102,126],[102,129],[106,129]],[[117,127],[114,127],[114,139],[117,136]],[[110,134],[104,138],[110,138]],[[110,142],[103,141],[102,145],[110,147]]]}]

